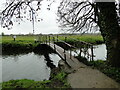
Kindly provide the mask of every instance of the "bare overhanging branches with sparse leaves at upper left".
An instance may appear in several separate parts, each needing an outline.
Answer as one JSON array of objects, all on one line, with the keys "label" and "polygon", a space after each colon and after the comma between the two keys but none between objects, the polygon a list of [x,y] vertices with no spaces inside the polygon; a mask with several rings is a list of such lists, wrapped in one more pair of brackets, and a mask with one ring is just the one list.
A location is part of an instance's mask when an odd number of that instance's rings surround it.
[{"label": "bare overhanging branches with sparse leaves at upper left", "polygon": [[[41,9],[41,2],[43,0],[7,0],[6,7],[0,13],[1,26],[7,28],[8,30],[12,28],[14,22],[21,22],[25,19],[33,23],[33,33],[34,33],[34,22],[42,21],[42,18],[37,18],[39,16],[39,11]],[[47,9],[50,10],[51,4],[54,0],[50,1]],[[33,4],[36,2],[36,4]]]}]

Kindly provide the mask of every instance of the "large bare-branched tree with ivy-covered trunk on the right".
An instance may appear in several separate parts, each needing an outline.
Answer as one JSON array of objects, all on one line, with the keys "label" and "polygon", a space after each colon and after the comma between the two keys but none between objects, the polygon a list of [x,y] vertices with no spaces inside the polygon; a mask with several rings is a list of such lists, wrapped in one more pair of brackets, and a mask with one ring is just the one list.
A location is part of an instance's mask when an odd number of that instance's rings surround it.
[{"label": "large bare-branched tree with ivy-covered trunk on the right", "polygon": [[72,31],[101,32],[107,47],[107,61],[120,67],[120,2],[63,0],[58,8],[61,27]]}]

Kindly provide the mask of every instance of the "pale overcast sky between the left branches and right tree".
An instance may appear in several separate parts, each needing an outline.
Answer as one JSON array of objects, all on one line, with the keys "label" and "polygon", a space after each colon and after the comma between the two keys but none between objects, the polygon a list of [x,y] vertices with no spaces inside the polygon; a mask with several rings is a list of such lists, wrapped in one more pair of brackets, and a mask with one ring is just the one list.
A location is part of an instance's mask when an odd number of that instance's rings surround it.
[{"label": "pale overcast sky between the left branches and right tree", "polygon": [[[42,1],[41,11],[39,13],[40,18],[43,19],[41,22],[35,22],[35,34],[57,34],[61,33],[61,29],[58,27],[57,23],[57,7],[59,6],[59,0],[56,0],[51,5],[51,10],[47,10],[47,2]],[[4,7],[5,0],[0,0],[0,10]],[[0,26],[0,33],[4,32],[4,34],[29,34],[33,33],[33,25],[32,22],[24,20],[21,24],[14,23],[14,26],[11,30],[7,28],[2,28]]]}]

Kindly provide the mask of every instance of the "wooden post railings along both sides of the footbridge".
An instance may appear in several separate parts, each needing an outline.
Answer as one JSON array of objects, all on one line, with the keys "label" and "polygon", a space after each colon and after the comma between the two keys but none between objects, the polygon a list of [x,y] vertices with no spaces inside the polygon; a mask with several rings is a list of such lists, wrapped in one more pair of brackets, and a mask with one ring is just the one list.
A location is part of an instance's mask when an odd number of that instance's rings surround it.
[{"label": "wooden post railings along both sides of the footbridge", "polygon": [[[77,42],[79,47],[76,47],[76,45],[70,45],[67,43],[67,37],[64,37],[64,41],[59,39],[58,35],[41,35],[39,36],[39,41],[44,44],[49,44],[53,42],[54,44],[54,50],[56,50],[55,42],[62,42],[65,45],[70,47],[70,59],[72,59],[72,51],[74,49],[79,48],[79,55],[86,57],[88,60],[93,61],[94,60],[94,53],[93,53],[93,45],[84,41],[80,41],[74,38],[69,38]],[[75,43],[76,44],[76,43]],[[64,49],[64,48],[63,48]],[[84,55],[83,55],[84,54]],[[66,50],[64,49],[64,59],[66,59]]]}]

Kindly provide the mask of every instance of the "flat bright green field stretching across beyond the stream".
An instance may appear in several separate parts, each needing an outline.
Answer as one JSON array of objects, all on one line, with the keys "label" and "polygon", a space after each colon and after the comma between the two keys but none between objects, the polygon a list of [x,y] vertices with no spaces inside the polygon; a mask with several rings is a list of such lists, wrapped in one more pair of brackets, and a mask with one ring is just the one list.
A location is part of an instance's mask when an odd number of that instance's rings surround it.
[{"label": "flat bright green field stretching across beyond the stream", "polygon": [[[57,39],[57,35],[51,35],[50,39],[53,40],[53,37],[55,37],[55,40]],[[75,41],[85,41],[88,43],[93,44],[99,44],[103,43],[103,38],[101,35],[58,35],[59,40],[65,41],[65,37],[67,42],[75,42]],[[48,39],[49,37],[47,37]],[[16,41],[18,42],[34,42],[36,40],[39,41],[45,41],[46,36],[45,35],[23,35],[23,36],[17,36]],[[11,42],[14,39],[12,36],[2,36],[2,42]]]}]

